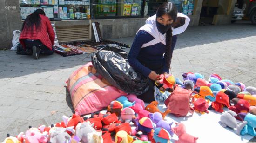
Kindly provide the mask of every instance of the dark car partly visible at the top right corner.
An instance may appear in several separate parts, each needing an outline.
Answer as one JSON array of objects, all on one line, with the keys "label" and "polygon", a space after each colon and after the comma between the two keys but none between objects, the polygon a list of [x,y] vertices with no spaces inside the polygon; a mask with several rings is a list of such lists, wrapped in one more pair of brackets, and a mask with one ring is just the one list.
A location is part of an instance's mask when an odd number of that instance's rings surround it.
[{"label": "dark car partly visible at the top right corner", "polygon": [[256,25],[256,0],[237,0],[238,8]]}]

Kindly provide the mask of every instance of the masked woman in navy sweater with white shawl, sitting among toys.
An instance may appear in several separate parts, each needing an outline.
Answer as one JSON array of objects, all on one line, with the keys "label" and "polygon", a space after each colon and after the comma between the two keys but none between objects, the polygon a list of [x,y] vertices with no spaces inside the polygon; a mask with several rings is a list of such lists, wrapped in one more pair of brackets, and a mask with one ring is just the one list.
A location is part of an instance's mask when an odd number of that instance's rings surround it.
[{"label": "masked woman in navy sweater with white shawl, sitting among toys", "polygon": [[184,32],[190,19],[177,13],[175,4],[168,2],[158,7],[156,14],[146,20],[135,36],[128,62],[138,72],[151,79],[147,92],[138,97],[154,101],[154,83],[160,74],[168,74],[177,34]]}]

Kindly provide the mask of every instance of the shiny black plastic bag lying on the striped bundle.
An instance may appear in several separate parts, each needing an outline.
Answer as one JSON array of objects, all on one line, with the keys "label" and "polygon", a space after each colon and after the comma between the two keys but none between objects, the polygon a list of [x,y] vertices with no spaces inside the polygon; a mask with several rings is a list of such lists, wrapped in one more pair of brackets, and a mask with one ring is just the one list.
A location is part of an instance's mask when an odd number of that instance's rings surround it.
[{"label": "shiny black plastic bag lying on the striped bundle", "polygon": [[139,72],[135,72],[127,61],[127,52],[104,47],[91,58],[94,68],[113,86],[135,95],[148,91],[149,80]]}]

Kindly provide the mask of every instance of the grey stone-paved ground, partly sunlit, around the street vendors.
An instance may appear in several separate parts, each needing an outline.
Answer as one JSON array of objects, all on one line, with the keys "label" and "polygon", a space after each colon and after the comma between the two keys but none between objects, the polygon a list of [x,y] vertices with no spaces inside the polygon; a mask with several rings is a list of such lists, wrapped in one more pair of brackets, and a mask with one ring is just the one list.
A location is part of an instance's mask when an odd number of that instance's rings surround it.
[{"label": "grey stone-paved ground, partly sunlit, around the street vendors", "polygon": [[[126,44],[132,38],[112,39]],[[217,73],[234,82],[256,86],[256,26],[195,26],[179,35],[171,72],[182,79],[184,72]],[[125,49],[129,51],[129,49]],[[72,115],[72,104],[64,87],[69,75],[90,61],[90,55],[62,57],[16,55],[0,51],[0,141],[28,126],[60,122]]]}]

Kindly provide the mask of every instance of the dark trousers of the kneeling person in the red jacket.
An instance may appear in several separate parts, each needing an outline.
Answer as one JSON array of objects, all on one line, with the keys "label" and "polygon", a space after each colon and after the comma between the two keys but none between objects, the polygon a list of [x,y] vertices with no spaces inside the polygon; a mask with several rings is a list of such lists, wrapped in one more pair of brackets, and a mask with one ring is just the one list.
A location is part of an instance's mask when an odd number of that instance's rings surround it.
[{"label": "dark trousers of the kneeling person in the red jacket", "polygon": [[32,50],[33,46],[37,46],[41,49],[40,54],[52,55],[54,53],[54,51],[50,50],[49,48],[47,48],[47,46],[43,45],[40,40],[24,40],[24,42],[26,44],[26,49],[28,48]]}]

